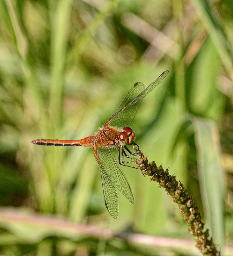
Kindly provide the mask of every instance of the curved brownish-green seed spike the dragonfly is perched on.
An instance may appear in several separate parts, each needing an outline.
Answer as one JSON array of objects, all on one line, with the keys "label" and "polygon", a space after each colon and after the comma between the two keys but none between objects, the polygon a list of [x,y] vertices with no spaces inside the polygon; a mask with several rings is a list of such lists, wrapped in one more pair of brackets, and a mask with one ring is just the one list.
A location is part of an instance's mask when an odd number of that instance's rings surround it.
[{"label": "curved brownish-green seed spike the dragonfly is perched on", "polygon": [[162,166],[157,167],[155,161],[148,162],[147,157],[144,157],[142,151],[134,147],[134,151],[138,155],[135,163],[143,173],[143,175],[151,176],[151,181],[156,181],[159,187],[165,188],[167,194],[173,198],[173,201],[178,204],[181,213],[184,215],[184,220],[187,222],[188,231],[196,240],[196,247],[203,255],[220,256],[212,238],[209,237],[209,229],[203,231],[204,223],[201,221],[198,207],[193,202],[193,196],[188,192],[184,185],[176,180],[176,176],[171,176],[168,169],[164,171]]}]

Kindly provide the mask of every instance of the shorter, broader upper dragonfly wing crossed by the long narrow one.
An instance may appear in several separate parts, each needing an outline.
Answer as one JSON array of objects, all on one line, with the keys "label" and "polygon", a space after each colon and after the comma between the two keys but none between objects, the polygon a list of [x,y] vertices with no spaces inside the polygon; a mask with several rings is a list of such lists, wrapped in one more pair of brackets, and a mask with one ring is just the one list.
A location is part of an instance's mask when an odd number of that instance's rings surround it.
[{"label": "shorter, broader upper dragonfly wing crossed by the long narrow one", "polygon": [[130,102],[132,102],[132,100],[134,100],[140,94],[140,92],[142,92],[143,89],[145,89],[145,86],[143,85],[143,83],[141,82],[135,83],[135,85],[128,91],[128,93],[120,103],[116,112],[106,121],[104,126],[110,123],[112,126],[117,126],[117,127],[129,126],[132,123],[135,117],[135,114],[138,110],[138,107],[142,101],[138,101],[136,104],[131,105],[130,107],[120,112],[119,114],[117,113],[121,109],[126,107]]}]

